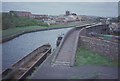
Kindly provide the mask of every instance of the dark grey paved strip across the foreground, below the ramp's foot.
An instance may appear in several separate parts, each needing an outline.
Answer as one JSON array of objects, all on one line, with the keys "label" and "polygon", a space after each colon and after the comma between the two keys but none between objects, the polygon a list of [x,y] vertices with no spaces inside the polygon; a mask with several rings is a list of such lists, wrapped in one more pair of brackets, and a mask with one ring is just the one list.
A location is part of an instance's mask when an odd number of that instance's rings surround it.
[{"label": "dark grey paved strip across the foreground, below the ramp's foot", "polygon": [[117,79],[118,70],[114,67],[44,66],[37,70],[32,79]]}]

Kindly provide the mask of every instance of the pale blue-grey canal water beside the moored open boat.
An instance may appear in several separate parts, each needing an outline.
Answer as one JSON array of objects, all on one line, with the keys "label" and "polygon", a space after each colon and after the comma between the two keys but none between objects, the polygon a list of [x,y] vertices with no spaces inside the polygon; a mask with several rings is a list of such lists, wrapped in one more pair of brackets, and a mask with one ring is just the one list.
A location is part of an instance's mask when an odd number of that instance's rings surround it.
[{"label": "pale blue-grey canal water beside the moored open boat", "polygon": [[39,46],[50,43],[56,48],[57,37],[65,34],[71,28],[39,31],[21,35],[2,44],[2,70],[11,67],[12,64],[23,58]]}]

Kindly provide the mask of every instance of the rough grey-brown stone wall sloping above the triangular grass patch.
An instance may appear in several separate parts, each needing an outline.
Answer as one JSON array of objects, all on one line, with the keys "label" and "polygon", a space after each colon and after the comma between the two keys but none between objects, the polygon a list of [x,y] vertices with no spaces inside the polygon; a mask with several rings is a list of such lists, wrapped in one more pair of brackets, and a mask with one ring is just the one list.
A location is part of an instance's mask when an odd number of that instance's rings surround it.
[{"label": "rough grey-brown stone wall sloping above the triangular grass patch", "polygon": [[102,54],[112,60],[118,60],[118,44],[106,40],[80,36],[81,46]]}]

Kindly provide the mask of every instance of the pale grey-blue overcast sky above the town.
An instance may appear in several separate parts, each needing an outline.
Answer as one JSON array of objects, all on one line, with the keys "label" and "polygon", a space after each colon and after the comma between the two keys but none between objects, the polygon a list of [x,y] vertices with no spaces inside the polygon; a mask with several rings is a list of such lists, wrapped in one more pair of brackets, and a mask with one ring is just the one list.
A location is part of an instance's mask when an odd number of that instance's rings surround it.
[{"label": "pale grey-blue overcast sky above the town", "polygon": [[33,14],[60,15],[66,10],[78,15],[116,17],[117,2],[2,2],[2,11],[29,11]]}]

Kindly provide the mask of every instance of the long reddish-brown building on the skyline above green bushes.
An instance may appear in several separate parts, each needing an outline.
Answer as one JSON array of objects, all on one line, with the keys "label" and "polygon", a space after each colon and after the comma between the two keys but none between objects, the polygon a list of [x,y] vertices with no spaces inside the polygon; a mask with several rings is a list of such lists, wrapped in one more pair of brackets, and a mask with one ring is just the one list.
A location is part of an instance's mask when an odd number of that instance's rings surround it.
[{"label": "long reddish-brown building on the skyline above green bushes", "polygon": [[16,15],[19,17],[32,17],[31,12],[26,12],[26,11],[10,11],[10,14]]}]

